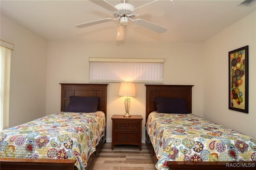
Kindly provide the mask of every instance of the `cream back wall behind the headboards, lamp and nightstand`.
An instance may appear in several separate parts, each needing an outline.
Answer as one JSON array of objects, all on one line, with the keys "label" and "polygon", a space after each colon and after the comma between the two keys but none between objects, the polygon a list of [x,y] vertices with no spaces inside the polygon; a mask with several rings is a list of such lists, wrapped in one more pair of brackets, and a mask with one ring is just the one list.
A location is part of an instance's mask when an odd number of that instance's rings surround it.
[{"label": "cream back wall behind the headboards, lamp and nightstand", "polygon": [[[126,43],[49,41],[47,58],[46,114],[60,111],[59,83],[88,83],[89,57],[164,58],[164,83],[193,87],[193,113],[202,116],[203,71],[202,43]],[[107,140],[111,141],[114,114],[123,115],[124,97],[118,96],[120,83],[108,85]],[[142,115],[144,138],[146,88],[136,84],[136,97],[131,99],[131,115]]]}]

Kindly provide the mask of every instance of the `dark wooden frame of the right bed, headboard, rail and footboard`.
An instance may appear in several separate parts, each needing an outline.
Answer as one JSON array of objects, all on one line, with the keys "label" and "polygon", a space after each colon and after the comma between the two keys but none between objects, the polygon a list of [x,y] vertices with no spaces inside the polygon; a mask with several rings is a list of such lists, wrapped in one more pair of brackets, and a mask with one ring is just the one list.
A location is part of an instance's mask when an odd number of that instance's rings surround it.
[{"label": "dark wooden frame of the right bed, headboard, rail and footboard", "polygon": [[[192,113],[192,87],[194,85],[146,85],[146,122],[148,115],[156,111],[155,97],[172,97],[186,99],[187,107]],[[153,156],[154,162],[158,161],[153,145],[146,131],[146,143]],[[256,162],[188,162],[168,161],[170,170],[231,170],[231,169],[255,169]],[[234,166],[240,166],[234,167]]]}]

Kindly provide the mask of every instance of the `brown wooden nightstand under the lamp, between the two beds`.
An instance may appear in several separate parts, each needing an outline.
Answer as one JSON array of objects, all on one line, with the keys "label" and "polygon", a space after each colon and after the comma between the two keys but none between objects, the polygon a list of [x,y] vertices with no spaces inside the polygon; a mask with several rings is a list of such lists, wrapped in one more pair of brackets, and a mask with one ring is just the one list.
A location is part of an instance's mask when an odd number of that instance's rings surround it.
[{"label": "brown wooden nightstand under the lamp, between the two beds", "polygon": [[139,145],[141,150],[142,116],[112,116],[112,150],[115,144]]}]

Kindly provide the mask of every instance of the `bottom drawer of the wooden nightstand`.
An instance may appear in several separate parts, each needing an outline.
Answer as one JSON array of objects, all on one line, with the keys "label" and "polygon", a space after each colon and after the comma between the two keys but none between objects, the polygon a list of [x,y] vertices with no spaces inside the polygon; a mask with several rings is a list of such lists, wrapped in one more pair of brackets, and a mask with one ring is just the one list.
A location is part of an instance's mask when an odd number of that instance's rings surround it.
[{"label": "bottom drawer of the wooden nightstand", "polygon": [[139,142],[140,132],[116,132],[115,142]]}]

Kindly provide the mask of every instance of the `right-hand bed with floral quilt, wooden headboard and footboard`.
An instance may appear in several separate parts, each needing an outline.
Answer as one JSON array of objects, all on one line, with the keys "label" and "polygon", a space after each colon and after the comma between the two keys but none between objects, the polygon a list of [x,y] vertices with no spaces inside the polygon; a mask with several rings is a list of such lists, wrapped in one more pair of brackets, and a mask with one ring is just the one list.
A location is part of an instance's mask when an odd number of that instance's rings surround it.
[{"label": "right-hand bed with floral quilt, wooden headboard and footboard", "polygon": [[[146,143],[156,168],[255,169],[256,140],[189,114],[192,113],[192,87],[193,85],[146,85]],[[182,99],[187,114],[177,114],[175,111],[175,114],[157,113],[162,107],[159,100],[165,99]],[[205,131],[208,133],[204,134]]]}]

